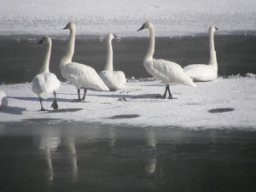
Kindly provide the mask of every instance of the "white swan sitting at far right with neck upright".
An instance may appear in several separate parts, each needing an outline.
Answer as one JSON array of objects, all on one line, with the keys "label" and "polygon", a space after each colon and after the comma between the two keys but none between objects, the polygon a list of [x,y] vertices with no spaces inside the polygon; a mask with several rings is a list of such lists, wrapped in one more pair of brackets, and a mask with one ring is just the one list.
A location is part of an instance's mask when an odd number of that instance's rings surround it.
[{"label": "white swan sitting at far right with neck upright", "polygon": [[195,81],[212,81],[218,76],[218,63],[214,48],[214,32],[218,30],[215,26],[209,28],[210,60],[206,64],[192,64],[183,68],[183,71]]}]

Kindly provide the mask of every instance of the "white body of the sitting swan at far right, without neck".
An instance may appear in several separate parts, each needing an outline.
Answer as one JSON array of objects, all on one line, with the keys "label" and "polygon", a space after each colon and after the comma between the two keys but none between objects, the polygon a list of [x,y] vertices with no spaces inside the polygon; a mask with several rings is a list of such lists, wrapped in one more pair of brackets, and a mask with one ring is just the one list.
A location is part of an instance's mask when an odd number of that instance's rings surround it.
[{"label": "white body of the sitting swan at far right, without neck", "polygon": [[195,81],[210,81],[217,78],[213,67],[204,64],[192,64],[183,68],[184,73]]}]

